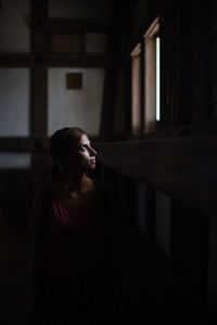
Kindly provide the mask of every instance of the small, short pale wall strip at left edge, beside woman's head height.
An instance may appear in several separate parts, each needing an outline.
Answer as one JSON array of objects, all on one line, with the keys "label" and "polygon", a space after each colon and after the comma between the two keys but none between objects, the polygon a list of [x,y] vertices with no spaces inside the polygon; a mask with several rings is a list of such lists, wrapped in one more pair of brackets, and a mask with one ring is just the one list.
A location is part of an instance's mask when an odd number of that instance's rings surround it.
[{"label": "small, short pale wall strip at left edge, beside woman's head height", "polygon": [[29,167],[29,154],[0,153],[0,169],[25,169]]}]

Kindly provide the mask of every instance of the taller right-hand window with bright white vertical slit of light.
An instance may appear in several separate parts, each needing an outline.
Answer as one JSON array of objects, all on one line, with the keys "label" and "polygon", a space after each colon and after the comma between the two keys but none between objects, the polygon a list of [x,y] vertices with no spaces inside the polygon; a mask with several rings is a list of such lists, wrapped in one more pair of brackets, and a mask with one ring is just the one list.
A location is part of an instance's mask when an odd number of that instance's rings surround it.
[{"label": "taller right-hand window with bright white vertical slit of light", "polygon": [[144,34],[144,131],[154,131],[161,120],[159,20]]}]

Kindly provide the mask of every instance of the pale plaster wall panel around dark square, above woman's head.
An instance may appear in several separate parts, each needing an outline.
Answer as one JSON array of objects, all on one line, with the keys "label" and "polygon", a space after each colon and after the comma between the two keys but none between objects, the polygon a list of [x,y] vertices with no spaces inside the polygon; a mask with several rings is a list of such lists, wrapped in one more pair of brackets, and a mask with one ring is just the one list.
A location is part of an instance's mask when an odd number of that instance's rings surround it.
[{"label": "pale plaster wall panel around dark square, above woman's head", "polygon": [[[81,73],[81,89],[66,89],[66,74]],[[95,68],[49,69],[49,126],[51,135],[63,127],[77,126],[99,135],[104,70]]]}]

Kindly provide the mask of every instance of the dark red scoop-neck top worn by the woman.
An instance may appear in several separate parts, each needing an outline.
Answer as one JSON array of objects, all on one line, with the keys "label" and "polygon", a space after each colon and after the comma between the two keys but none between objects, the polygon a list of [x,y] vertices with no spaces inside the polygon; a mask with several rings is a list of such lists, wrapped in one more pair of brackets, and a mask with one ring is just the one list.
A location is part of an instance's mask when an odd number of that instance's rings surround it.
[{"label": "dark red scoop-neck top worn by the woman", "polygon": [[[49,213],[49,253],[46,269],[60,273],[90,273],[103,268],[105,207],[100,193],[86,207],[69,211],[56,198]],[[36,194],[31,226],[37,227],[40,191]]]}]

